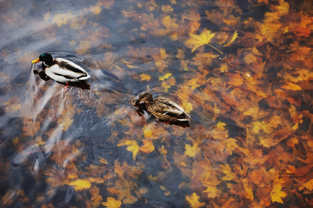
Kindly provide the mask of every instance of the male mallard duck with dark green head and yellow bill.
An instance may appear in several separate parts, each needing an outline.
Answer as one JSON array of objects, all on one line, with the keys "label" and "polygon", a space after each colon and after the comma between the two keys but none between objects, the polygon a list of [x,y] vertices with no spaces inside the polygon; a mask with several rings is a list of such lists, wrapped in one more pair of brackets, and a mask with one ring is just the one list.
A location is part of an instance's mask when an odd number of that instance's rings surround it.
[{"label": "male mallard duck with dark green head and yellow bill", "polygon": [[60,83],[80,82],[90,78],[87,71],[79,65],[62,58],[53,59],[48,53],[43,53],[31,63],[37,62],[43,62],[45,74]]}]

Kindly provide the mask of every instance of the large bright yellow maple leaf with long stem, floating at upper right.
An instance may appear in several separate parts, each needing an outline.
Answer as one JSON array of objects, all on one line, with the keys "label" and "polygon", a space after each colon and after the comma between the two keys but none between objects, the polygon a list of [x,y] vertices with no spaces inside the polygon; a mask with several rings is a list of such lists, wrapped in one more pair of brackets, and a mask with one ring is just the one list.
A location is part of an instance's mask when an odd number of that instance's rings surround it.
[{"label": "large bright yellow maple leaf with long stem, floating at upper right", "polygon": [[191,52],[194,52],[198,47],[200,47],[201,45],[209,45],[212,48],[216,49],[217,51],[219,51],[221,54],[223,54],[219,49],[217,49],[216,47],[212,46],[209,44],[209,42],[211,42],[211,39],[215,36],[215,33],[211,33],[210,30],[208,29],[204,29],[200,35],[196,35],[196,34],[192,34],[189,33],[190,39],[188,39],[187,41],[184,42],[184,44],[189,47],[192,48]]}]

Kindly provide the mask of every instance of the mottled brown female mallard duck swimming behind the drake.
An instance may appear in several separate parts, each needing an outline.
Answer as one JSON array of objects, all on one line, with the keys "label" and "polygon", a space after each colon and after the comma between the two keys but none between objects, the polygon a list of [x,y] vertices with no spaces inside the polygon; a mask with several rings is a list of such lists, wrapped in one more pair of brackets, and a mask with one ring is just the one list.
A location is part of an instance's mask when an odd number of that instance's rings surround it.
[{"label": "mottled brown female mallard duck swimming behind the drake", "polygon": [[184,109],[167,98],[158,97],[153,99],[149,92],[142,92],[133,105],[140,102],[143,102],[146,111],[151,113],[156,119],[172,122],[191,120],[191,117]]}]

